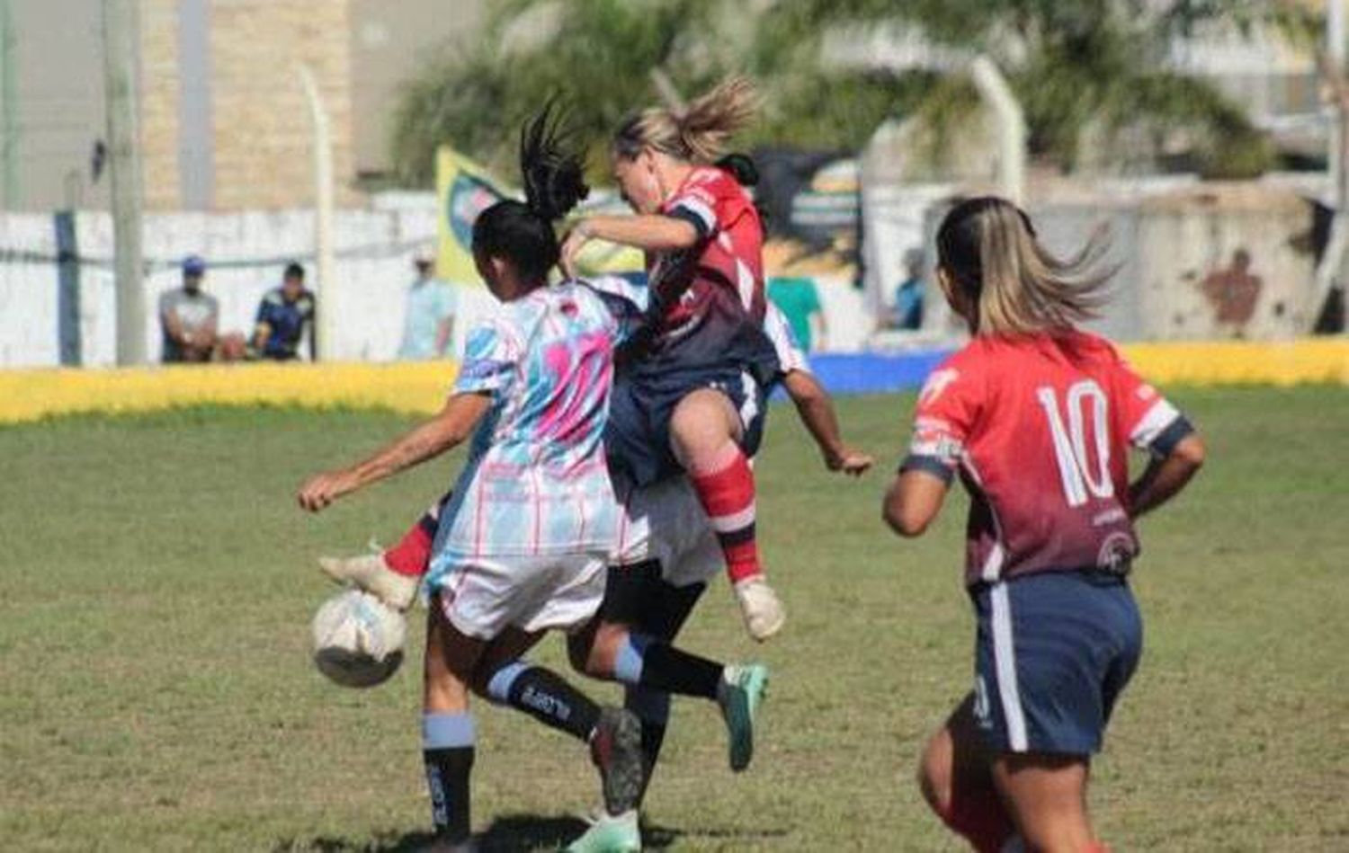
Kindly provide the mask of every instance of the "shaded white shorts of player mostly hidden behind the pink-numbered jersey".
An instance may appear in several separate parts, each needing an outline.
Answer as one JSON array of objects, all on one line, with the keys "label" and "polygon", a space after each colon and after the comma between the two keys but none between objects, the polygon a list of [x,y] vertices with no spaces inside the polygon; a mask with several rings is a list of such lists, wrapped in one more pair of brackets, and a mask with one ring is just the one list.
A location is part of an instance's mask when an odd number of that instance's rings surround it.
[{"label": "shaded white shorts of player mostly hidden behind the pink-numbered jersey", "polygon": [[726,565],[722,547],[687,477],[672,477],[643,489],[618,489],[618,544],[611,566],[648,561],[661,565],[670,586],[704,583]]}]

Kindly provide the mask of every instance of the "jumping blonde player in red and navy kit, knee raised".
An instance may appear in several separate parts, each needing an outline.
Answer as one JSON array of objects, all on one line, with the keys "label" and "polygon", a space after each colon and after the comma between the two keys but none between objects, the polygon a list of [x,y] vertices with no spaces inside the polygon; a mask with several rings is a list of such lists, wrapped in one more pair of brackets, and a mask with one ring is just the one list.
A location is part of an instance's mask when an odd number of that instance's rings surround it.
[{"label": "jumping blonde player in red and navy kit, knee raised", "polygon": [[590,240],[646,252],[649,325],[614,389],[610,465],[638,486],[688,473],[746,628],[766,640],[786,614],[759,563],[749,465],[777,369],[762,331],[764,230],[743,187],[715,166],[753,115],[753,86],[733,78],[681,112],[627,119],[612,163],[637,216],[583,218],[563,244],[563,267]]}]

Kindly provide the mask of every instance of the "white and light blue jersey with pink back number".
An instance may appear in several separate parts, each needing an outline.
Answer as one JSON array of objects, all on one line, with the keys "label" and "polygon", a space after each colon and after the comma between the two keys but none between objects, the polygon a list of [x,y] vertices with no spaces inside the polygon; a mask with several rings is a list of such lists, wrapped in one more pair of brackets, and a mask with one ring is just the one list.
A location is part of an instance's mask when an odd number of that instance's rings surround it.
[{"label": "white and light blue jersey with pink back number", "polygon": [[622,298],[629,287],[541,287],[469,333],[453,392],[488,393],[492,404],[441,515],[433,589],[476,558],[612,546],[618,512],[602,438],[614,348],[639,314]]}]

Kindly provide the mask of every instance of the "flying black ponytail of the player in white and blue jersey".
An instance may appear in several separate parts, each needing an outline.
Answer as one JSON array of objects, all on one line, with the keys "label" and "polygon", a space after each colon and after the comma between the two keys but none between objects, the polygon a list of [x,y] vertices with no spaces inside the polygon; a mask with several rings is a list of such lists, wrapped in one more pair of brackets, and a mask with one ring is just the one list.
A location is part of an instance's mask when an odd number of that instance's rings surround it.
[{"label": "flying black ponytail of the player in white and blue jersey", "polygon": [[567,216],[590,195],[585,158],[565,127],[565,116],[549,101],[519,132],[519,171],[525,203],[549,222]]}]

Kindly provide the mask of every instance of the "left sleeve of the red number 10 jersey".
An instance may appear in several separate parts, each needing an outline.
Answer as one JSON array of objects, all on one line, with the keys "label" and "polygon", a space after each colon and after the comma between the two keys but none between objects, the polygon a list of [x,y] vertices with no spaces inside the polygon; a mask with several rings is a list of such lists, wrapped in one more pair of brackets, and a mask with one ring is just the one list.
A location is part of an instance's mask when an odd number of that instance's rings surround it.
[{"label": "left sleeve of the red number 10 jersey", "polygon": [[983,406],[983,379],[970,364],[948,360],[919,393],[913,438],[900,473],[921,470],[951,482]]}]

